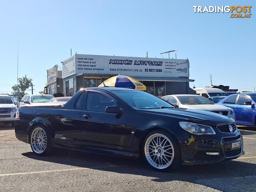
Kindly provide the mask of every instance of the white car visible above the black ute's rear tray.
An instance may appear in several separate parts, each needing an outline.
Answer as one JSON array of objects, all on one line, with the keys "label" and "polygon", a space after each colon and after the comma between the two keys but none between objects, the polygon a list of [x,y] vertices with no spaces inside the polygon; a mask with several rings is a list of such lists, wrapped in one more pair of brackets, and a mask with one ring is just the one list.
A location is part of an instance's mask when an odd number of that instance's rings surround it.
[{"label": "white car visible above the black ute's rear tray", "polygon": [[25,98],[24,97],[22,98],[22,100],[20,102],[20,106],[37,104],[37,103],[46,103],[46,102],[49,102],[52,98],[54,98],[54,96],[46,95],[46,94],[26,95],[26,97]]}]

